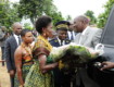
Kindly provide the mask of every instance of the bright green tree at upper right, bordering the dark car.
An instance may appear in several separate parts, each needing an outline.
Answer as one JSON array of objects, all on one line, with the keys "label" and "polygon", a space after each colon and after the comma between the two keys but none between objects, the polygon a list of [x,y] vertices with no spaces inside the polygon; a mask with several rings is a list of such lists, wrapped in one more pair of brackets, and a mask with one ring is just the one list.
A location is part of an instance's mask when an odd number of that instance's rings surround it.
[{"label": "bright green tree at upper right, bordering the dark car", "polygon": [[104,8],[104,12],[101,13],[98,17],[98,27],[100,28],[103,28],[106,21],[107,21],[107,17],[109,17],[109,14],[110,14],[110,11],[111,9],[113,8],[113,4],[114,4],[114,0],[109,0],[105,5],[103,7]]}]

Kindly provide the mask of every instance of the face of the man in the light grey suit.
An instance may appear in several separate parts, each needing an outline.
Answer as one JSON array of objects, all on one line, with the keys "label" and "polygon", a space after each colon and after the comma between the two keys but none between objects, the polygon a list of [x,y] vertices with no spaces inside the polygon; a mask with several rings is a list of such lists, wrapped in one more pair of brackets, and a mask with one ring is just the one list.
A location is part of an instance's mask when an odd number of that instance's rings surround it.
[{"label": "face of the man in the light grey suit", "polygon": [[79,18],[74,20],[74,30],[77,33],[81,33],[84,30],[84,24]]}]

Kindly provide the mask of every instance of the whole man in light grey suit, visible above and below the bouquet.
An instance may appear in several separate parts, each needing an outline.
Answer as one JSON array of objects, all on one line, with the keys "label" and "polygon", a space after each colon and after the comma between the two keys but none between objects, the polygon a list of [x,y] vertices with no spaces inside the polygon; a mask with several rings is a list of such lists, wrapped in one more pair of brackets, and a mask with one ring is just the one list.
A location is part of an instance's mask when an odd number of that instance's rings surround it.
[{"label": "whole man in light grey suit, visible above and below the bouquet", "polygon": [[[89,27],[90,20],[87,16],[79,15],[74,20],[74,30],[78,33],[75,37],[75,42],[94,49],[99,44],[102,30]],[[78,69],[76,76],[76,85],[78,87],[99,87],[87,73],[87,64]]]}]

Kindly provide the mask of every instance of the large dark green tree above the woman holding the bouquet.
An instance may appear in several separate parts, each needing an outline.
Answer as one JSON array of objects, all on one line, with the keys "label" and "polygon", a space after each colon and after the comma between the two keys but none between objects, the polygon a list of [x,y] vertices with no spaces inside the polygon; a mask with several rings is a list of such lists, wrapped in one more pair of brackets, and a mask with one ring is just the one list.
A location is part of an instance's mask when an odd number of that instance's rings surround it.
[{"label": "large dark green tree above the woman holding the bouquet", "polygon": [[30,18],[33,24],[43,14],[53,17],[54,22],[63,18],[52,0],[20,0],[18,13],[20,17]]}]

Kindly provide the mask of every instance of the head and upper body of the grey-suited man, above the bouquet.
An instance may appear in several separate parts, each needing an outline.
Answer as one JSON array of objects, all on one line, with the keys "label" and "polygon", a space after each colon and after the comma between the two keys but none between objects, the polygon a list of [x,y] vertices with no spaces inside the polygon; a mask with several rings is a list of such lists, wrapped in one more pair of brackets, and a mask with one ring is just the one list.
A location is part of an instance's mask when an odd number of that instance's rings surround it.
[{"label": "head and upper body of the grey-suited man, above the bouquet", "polygon": [[78,33],[75,42],[94,48],[100,41],[102,29],[90,27],[87,18],[86,16],[78,16],[74,20],[74,30]]}]

